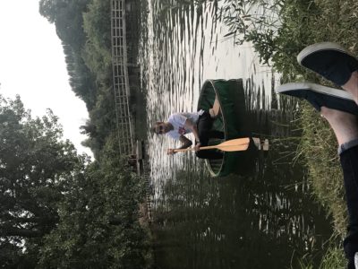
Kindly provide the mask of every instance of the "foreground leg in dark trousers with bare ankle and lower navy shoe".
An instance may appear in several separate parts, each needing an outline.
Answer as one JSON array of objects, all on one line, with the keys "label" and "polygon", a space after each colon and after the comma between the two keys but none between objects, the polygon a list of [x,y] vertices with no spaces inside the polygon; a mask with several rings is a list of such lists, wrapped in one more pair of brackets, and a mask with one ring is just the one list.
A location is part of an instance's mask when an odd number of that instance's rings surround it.
[{"label": "foreground leg in dark trousers with bare ankle and lower navy shoe", "polygon": [[[301,89],[299,86],[302,86]],[[358,252],[358,117],[357,106],[349,95],[314,83],[288,83],[277,92],[308,100],[328,120],[337,137],[339,157],[343,169],[345,197],[348,208],[348,234],[344,241],[348,269],[354,266]],[[341,108],[344,108],[342,110]]]}]

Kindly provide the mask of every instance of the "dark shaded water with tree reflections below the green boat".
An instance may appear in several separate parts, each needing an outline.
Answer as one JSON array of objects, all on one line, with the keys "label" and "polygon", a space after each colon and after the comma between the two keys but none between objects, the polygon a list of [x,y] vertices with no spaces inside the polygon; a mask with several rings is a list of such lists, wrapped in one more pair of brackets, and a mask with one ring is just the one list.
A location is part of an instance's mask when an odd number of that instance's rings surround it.
[{"label": "dark shaded water with tree reflections below the green boat", "polygon": [[[277,134],[289,128],[266,125]],[[190,169],[176,171],[158,200],[158,265],[285,268],[293,253],[303,256],[320,249],[323,239],[316,234],[330,232],[328,221],[312,203],[304,169],[290,154],[296,145],[295,139],[274,141],[267,156],[256,156],[254,173],[243,177],[208,178]]]}]

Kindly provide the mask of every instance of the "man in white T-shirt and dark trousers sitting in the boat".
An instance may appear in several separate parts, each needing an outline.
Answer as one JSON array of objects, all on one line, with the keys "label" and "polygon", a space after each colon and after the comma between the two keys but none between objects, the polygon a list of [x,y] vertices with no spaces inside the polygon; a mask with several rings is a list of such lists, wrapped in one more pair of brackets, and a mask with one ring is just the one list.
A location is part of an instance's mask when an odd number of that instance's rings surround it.
[{"label": "man in white T-shirt and dark trousers sitting in the boat", "polygon": [[[220,113],[218,100],[209,111],[200,109],[192,113],[175,113],[168,117],[166,121],[158,121],[152,127],[155,134],[166,134],[167,136],[179,140],[182,145],[177,149],[186,149],[192,146],[192,141],[185,134],[193,134],[195,138],[195,155],[200,159],[221,159],[222,152],[216,150],[200,151],[201,146],[206,146],[210,138],[224,138],[224,133],[212,130],[215,118]],[[175,154],[175,149],[168,149],[167,154]]]}]

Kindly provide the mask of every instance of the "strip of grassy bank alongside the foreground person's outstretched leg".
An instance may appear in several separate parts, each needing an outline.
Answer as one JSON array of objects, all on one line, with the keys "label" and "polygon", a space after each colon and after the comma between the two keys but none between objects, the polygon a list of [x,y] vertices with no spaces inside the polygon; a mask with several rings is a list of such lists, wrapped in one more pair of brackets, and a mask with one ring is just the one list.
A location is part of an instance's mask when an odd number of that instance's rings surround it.
[{"label": "strip of grassy bank alongside the foreground person's outstretched leg", "polygon": [[[332,216],[334,234],[320,269],[345,268],[342,239],[346,229],[343,176],[337,155],[337,141],[328,126],[311,105],[301,104],[303,136],[297,154],[308,167],[312,195]],[[313,268],[311,257],[303,257],[302,268]]]}]

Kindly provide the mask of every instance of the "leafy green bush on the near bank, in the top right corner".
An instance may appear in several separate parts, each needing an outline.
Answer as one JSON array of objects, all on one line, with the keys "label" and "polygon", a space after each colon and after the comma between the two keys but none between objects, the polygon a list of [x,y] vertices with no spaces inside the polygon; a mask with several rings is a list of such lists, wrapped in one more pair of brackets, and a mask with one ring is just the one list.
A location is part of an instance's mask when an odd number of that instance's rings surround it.
[{"label": "leafy green bush on the near bank, in the top right corner", "polygon": [[357,3],[334,0],[225,0],[221,18],[237,43],[251,41],[264,64],[273,65],[283,81],[318,80],[296,63],[304,47],[321,41],[356,48]]}]

